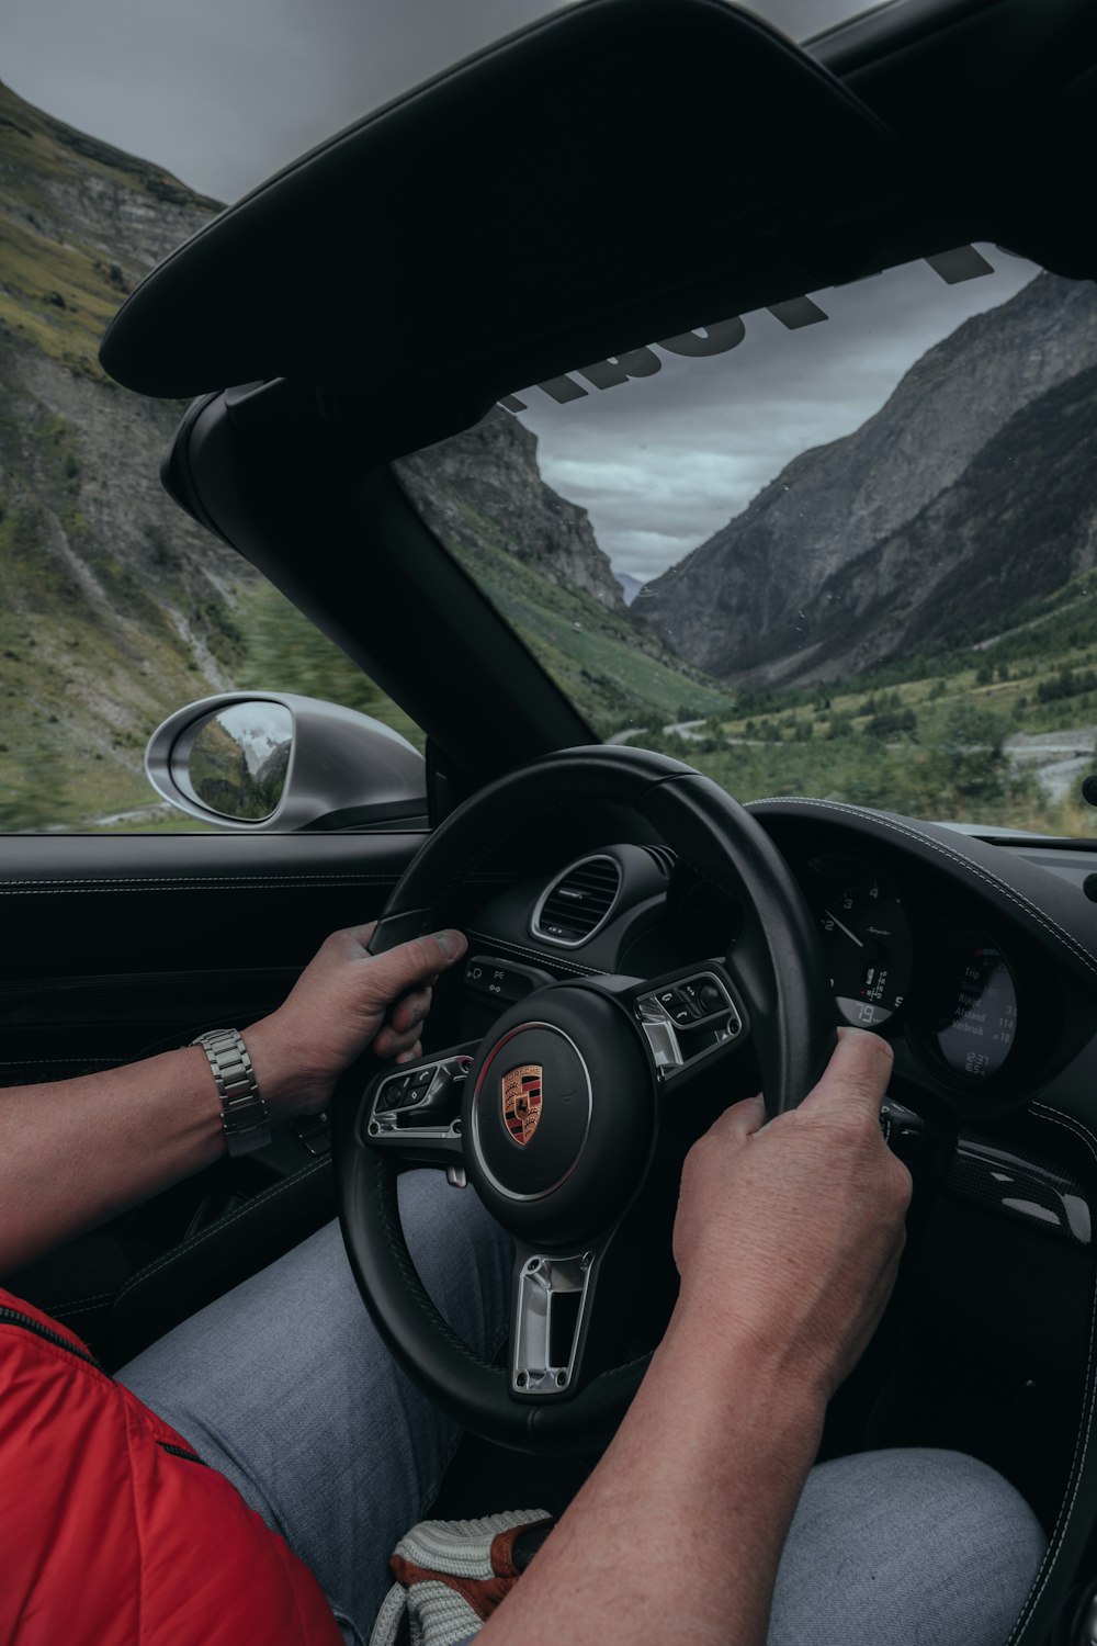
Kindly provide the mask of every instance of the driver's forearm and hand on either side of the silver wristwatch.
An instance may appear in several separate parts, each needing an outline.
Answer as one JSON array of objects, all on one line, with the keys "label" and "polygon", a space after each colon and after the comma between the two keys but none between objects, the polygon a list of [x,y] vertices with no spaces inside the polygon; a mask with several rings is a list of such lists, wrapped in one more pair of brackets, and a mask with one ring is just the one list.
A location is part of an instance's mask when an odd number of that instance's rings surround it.
[{"label": "driver's forearm and hand on either side of the silver wristwatch", "polygon": [[[316,1114],[345,1065],[418,1057],[431,983],[459,932],[365,948],[373,925],[334,932],[278,1011],[243,1030],[273,1124]],[[0,1091],[0,1276],[217,1160],[220,1100],[201,1047],[79,1080]]]}]

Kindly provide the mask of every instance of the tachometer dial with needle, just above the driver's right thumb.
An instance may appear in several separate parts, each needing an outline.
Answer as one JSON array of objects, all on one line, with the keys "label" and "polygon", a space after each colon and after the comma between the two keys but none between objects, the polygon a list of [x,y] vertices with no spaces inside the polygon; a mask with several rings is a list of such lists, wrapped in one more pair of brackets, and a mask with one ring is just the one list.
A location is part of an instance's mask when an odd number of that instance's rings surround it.
[{"label": "tachometer dial with needle, just above the driver's right thumb", "polygon": [[824,853],[809,859],[804,890],[839,1014],[862,1029],[885,1024],[903,1004],[913,963],[895,882],[865,858]]}]

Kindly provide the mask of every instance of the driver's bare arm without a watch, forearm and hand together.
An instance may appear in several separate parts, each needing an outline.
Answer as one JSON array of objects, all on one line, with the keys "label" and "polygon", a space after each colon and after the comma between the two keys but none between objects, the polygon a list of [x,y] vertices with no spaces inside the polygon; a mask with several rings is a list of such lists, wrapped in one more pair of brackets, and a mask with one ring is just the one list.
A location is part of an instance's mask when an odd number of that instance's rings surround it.
[{"label": "driver's bare arm without a watch, forearm and hand together", "polygon": [[485,1646],[765,1639],[826,1401],[903,1249],[910,1177],[880,1131],[890,1070],[883,1040],[844,1034],[798,1109],[766,1124],[760,1098],[738,1103],[689,1151],[671,1323]]}]

